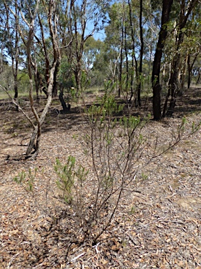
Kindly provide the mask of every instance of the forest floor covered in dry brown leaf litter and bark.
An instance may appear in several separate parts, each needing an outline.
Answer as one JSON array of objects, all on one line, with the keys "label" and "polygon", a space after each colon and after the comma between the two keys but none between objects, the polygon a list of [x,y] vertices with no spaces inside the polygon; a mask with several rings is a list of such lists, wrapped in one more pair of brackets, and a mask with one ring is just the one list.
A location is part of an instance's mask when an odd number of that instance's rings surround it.
[{"label": "forest floor covered in dry brown leaf litter and bark", "polygon": [[[29,108],[25,101],[22,106]],[[66,115],[57,109],[55,101],[43,126],[38,158],[8,160],[26,151],[31,127],[8,100],[1,100],[0,268],[201,268],[201,131],[189,137],[193,123],[201,120],[201,89],[178,98],[174,117],[150,120],[144,127],[144,134],[158,137],[158,146],[165,149],[181,119],[187,119],[181,141],[142,167],[135,191],[123,195],[96,245],[77,243],[80,230],[73,230],[68,216],[59,223],[50,217],[58,205],[64,206],[55,199],[55,159],[65,163],[75,156],[78,163],[91,165],[83,153],[87,121],[76,108]],[[147,109],[151,111],[151,101]],[[33,174],[34,194],[13,181],[22,171],[29,178],[29,171]]]}]

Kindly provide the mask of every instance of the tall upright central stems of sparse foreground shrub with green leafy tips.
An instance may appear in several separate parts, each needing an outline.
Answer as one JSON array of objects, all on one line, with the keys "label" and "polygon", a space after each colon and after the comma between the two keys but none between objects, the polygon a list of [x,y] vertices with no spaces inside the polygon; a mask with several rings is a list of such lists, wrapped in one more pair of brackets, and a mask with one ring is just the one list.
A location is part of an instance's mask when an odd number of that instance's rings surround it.
[{"label": "tall upright central stems of sparse foreground shrub with green leafy tips", "polygon": [[[94,242],[110,226],[124,189],[133,189],[135,186],[135,162],[147,142],[142,128],[149,121],[149,116],[144,120],[122,116],[124,104],[117,103],[114,88],[111,81],[105,83],[103,97],[96,99],[94,105],[86,109],[91,130],[85,135],[87,147],[84,153],[93,160],[91,168],[94,171],[95,195],[91,196],[95,200],[91,203],[100,226]],[[109,209],[107,204],[110,205]],[[104,208],[107,208],[107,216]]]}]

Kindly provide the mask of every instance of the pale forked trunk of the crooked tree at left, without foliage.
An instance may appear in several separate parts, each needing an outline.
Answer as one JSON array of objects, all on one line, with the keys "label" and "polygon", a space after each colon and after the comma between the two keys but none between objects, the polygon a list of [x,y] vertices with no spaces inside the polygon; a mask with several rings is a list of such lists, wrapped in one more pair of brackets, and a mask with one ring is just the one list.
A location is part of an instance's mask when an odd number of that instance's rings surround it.
[{"label": "pale forked trunk of the crooked tree at left, without foliage", "polygon": [[[47,5],[48,4],[48,5]],[[41,6],[40,6],[41,5]],[[45,120],[45,116],[47,114],[47,111],[50,107],[50,104],[52,102],[52,89],[54,87],[54,77],[55,72],[57,72],[57,64],[60,61],[60,55],[59,55],[59,43],[57,38],[57,20],[58,14],[57,14],[57,4],[55,4],[54,0],[48,1],[46,3],[43,1],[43,3],[40,3],[40,0],[37,0],[34,6],[31,6],[29,8],[29,15],[28,18],[24,17],[24,14],[22,15],[22,20],[24,21],[24,24],[27,28],[27,36],[26,36],[26,47],[27,47],[27,67],[28,67],[28,74],[29,74],[29,101],[31,105],[31,111],[34,113],[34,118],[36,120],[36,124],[27,116],[29,119],[32,127],[33,132],[31,135],[31,139],[29,142],[29,146],[27,148],[27,153],[25,158],[36,158],[38,156],[39,146],[40,146],[40,136],[41,136],[41,127],[43,125],[43,122]],[[42,113],[40,115],[36,111],[36,107],[34,106],[34,97],[33,97],[33,90],[34,90],[34,83],[33,83],[33,56],[31,55],[31,51],[35,50],[35,47],[38,45],[36,43],[36,20],[38,12],[40,12],[40,8],[44,8],[46,15],[47,15],[47,22],[48,22],[48,34],[50,34],[50,40],[52,42],[52,61],[50,66],[50,74],[49,74],[49,81],[47,86],[47,102],[43,108]],[[22,34],[22,33],[21,33]],[[47,32],[46,32],[47,34]],[[40,44],[39,44],[40,45]],[[33,151],[34,150],[34,151]]]}]

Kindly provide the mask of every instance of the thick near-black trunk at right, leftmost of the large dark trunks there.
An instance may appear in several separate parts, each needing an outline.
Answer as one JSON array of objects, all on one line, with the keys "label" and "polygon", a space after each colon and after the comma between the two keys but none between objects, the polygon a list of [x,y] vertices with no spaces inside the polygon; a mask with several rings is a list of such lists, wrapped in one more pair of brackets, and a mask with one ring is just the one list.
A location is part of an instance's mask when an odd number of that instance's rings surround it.
[{"label": "thick near-black trunk at right, leftmost of the large dark trunks there", "polygon": [[161,120],[161,84],[160,84],[161,57],[163,54],[163,48],[165,46],[165,39],[168,34],[167,25],[170,17],[170,11],[172,8],[172,2],[173,0],[163,0],[161,31],[159,32],[158,43],[156,46],[156,53],[154,55],[154,64],[151,76],[151,83],[153,89],[154,120]]}]

